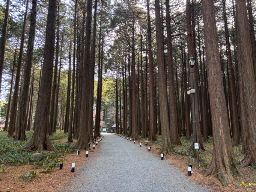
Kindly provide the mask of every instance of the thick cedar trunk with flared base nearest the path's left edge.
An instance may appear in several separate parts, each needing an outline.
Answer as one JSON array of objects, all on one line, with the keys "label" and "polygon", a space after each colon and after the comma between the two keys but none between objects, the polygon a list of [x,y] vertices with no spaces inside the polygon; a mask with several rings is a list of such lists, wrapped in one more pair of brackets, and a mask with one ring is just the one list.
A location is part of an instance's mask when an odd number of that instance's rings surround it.
[{"label": "thick cedar trunk with flared base nearest the path's left edge", "polygon": [[89,93],[90,93],[90,45],[92,29],[92,0],[87,1],[85,43],[84,43],[84,61],[81,70],[81,108],[79,122],[79,136],[76,144],[72,148],[89,149],[88,145],[88,119],[89,119]]}]

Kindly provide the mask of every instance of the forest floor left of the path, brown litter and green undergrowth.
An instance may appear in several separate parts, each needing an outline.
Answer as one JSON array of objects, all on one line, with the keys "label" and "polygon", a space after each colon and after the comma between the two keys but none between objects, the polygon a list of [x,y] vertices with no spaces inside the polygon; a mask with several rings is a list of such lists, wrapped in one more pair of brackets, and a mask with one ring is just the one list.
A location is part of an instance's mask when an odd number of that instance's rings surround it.
[{"label": "forest floor left of the path, brown litter and green undergrowth", "polygon": [[[68,135],[63,131],[57,131],[50,136],[56,152],[44,151],[42,160],[33,161],[29,158],[32,153],[23,151],[31,140],[33,131],[26,131],[27,141],[16,141],[6,138],[7,132],[0,131],[0,192],[55,192],[72,179],[81,165],[97,154],[97,149],[86,151],[70,149],[74,144],[68,143]],[[36,153],[36,152],[34,152]],[[63,168],[59,169],[59,163],[63,162]],[[70,172],[71,164],[75,163],[75,173]]]}]

